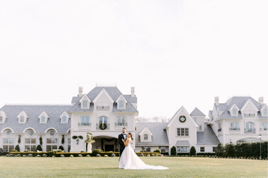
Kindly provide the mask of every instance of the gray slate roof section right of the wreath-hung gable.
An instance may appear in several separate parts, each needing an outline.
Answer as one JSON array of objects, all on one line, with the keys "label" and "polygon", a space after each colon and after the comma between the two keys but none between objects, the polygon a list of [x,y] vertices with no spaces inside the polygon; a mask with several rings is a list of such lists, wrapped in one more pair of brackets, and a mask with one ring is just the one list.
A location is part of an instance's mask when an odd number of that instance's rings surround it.
[{"label": "gray slate roof section right of the wreath-hung gable", "polygon": [[210,125],[204,124],[204,132],[196,132],[197,145],[218,145],[220,142]]}]

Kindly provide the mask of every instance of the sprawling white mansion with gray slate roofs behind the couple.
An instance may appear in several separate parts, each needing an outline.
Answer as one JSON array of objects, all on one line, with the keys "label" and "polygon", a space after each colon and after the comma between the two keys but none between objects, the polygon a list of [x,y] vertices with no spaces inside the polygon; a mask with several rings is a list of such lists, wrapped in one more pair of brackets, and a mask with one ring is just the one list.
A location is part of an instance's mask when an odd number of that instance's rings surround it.
[{"label": "sprawling white mansion with gray slate roofs behind the couple", "polygon": [[[263,97],[231,97],[219,103],[215,97],[209,121],[195,108],[191,114],[182,106],[169,122],[136,122],[137,97],[122,94],[113,86],[97,85],[89,93],[72,98],[71,104],[5,104],[0,108],[0,148],[9,152],[16,145],[20,151],[35,151],[42,138],[44,152],[64,147],[64,152],[87,151],[85,139],[91,132],[96,141],[93,149],[117,151],[122,128],[133,133],[136,151],[215,152],[218,143],[240,143],[267,140],[267,105]],[[73,136],[75,139],[73,139]],[[83,138],[82,138],[83,137]],[[63,142],[64,138],[64,143]]]}]

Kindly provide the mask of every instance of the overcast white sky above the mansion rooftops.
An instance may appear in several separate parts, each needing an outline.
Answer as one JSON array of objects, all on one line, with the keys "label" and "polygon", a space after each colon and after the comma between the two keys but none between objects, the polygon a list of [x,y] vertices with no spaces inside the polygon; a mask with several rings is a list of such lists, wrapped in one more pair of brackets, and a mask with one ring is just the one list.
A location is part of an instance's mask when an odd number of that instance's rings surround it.
[{"label": "overcast white sky above the mansion rooftops", "polygon": [[267,103],[267,0],[0,0],[0,108],[135,86],[139,116],[206,116],[214,97]]}]

